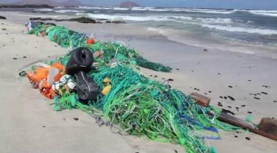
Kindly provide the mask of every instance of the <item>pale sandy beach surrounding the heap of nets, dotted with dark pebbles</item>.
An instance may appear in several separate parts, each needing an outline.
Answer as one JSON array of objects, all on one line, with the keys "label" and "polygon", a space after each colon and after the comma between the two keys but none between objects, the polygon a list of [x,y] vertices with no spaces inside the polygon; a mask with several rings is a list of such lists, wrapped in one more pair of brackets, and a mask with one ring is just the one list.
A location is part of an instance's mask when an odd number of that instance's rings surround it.
[{"label": "pale sandy beach surrounding the heap of nets, dotted with dark pebbles", "polygon": [[[184,152],[179,145],[114,134],[109,127],[99,127],[95,119],[80,110],[53,111],[52,102],[33,90],[26,78],[20,79],[18,72],[30,63],[62,56],[69,48],[23,34],[26,30],[23,23],[30,16],[0,14],[7,17],[0,20],[0,152]],[[277,117],[277,59],[224,48],[205,51],[206,48],[170,41],[158,32],[132,24],[68,21],[57,24],[92,33],[100,41],[125,42],[146,59],[173,68],[170,73],[141,68],[145,76],[161,82],[174,79],[170,83],[172,88],[186,94],[206,94],[212,99],[211,105],[231,110],[240,119],[251,114],[253,122],[259,123],[262,117]],[[276,141],[251,132],[221,131],[220,134],[221,140],[208,141],[217,152],[277,150]]]}]

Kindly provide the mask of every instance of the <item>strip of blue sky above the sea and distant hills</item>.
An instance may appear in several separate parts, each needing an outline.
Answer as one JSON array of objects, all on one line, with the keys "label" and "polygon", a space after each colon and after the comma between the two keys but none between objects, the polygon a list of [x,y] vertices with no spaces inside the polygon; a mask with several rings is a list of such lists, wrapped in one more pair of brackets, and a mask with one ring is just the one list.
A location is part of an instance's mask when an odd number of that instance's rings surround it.
[{"label": "strip of blue sky above the sea and distant hills", "polygon": [[[0,2],[12,2],[19,0],[0,0]],[[63,0],[53,0],[63,1]],[[78,0],[99,6],[114,6],[124,0]],[[126,1],[126,0],[125,0]],[[128,1],[128,0],[127,0]],[[188,8],[250,8],[277,10],[277,0],[131,0],[141,6],[168,6]]]}]

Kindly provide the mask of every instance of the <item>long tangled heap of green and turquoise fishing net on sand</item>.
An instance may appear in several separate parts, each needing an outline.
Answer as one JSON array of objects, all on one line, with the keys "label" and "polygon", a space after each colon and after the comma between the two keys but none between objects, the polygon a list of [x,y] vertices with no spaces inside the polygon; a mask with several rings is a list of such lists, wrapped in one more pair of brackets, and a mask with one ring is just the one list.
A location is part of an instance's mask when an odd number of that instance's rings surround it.
[{"label": "long tangled heap of green and turquoise fishing net on sand", "polygon": [[[114,42],[96,41],[87,44],[87,34],[80,34],[62,26],[38,25],[29,34],[48,37],[64,48],[85,46],[91,52],[101,52],[95,58],[89,75],[100,88],[103,79],[111,80],[109,94],[99,95],[97,101],[85,105],[76,99],[76,94],[55,96],[54,110],[80,109],[89,114],[103,116],[114,126],[136,136],[148,136],[159,142],[182,145],[186,152],[216,152],[205,144],[205,139],[220,139],[217,129],[226,131],[237,128],[217,120],[220,110],[213,106],[204,108],[183,92],[171,89],[170,85],[148,79],[139,72],[139,66],[162,72],[170,68],[150,62],[135,50]],[[70,52],[64,57],[47,61],[66,65]],[[213,112],[215,115],[209,115]]]}]

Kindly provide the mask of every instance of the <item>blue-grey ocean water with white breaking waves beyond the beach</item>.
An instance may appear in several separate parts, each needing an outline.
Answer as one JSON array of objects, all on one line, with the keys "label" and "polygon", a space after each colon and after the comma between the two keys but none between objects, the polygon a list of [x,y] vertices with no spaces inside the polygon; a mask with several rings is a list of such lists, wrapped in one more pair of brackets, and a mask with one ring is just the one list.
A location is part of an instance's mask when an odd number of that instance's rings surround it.
[{"label": "blue-grey ocean water with white breaking waves beyond the beach", "polygon": [[28,12],[126,21],[179,43],[277,58],[277,10],[57,7]]}]

